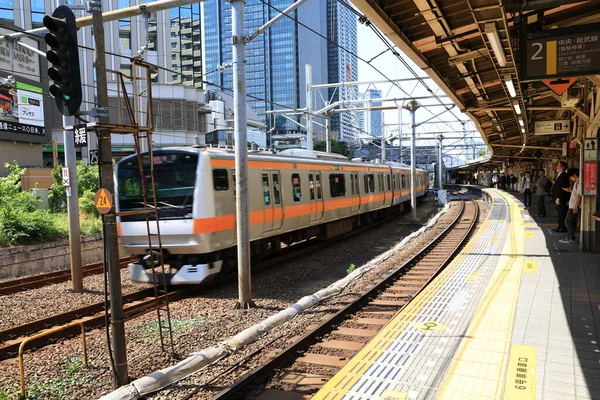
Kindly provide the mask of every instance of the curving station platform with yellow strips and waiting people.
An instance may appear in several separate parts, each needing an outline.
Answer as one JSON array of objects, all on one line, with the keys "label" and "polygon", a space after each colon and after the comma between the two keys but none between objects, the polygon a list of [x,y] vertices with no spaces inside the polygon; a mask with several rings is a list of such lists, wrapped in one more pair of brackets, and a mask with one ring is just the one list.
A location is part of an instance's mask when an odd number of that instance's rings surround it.
[{"label": "curving station platform with yellow strips and waiting people", "polygon": [[600,254],[484,190],[462,252],[313,399],[600,399]]}]

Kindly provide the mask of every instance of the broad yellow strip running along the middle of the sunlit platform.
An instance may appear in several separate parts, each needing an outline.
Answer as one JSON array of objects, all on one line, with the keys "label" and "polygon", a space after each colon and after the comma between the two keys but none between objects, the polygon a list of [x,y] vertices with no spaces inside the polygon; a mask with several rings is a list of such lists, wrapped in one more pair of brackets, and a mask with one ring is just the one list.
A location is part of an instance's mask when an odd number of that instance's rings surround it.
[{"label": "broad yellow strip running along the middle of the sunlit platform", "polygon": [[[533,236],[533,232],[524,231],[523,218],[517,203],[508,196],[502,196],[508,202],[511,215],[510,232],[506,238],[503,255],[475,311],[466,338],[440,385],[436,399],[457,399],[465,392],[476,393],[482,397],[503,398],[514,313],[523,273],[524,237],[529,233]],[[490,337],[492,332],[494,335]],[[494,364],[497,368],[488,367],[492,354],[495,354]],[[459,371],[465,370],[465,365],[471,371],[484,373],[464,376]]]}]

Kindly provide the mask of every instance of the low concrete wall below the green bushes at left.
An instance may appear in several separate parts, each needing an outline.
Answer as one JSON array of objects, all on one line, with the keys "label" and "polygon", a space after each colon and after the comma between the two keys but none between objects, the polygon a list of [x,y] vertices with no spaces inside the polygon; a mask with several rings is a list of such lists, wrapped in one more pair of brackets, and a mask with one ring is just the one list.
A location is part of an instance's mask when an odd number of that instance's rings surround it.
[{"label": "low concrete wall below the green bushes at left", "polygon": [[[81,249],[84,265],[102,261],[102,235],[82,237]],[[0,253],[0,279],[70,268],[68,240],[4,248]],[[122,246],[119,255],[128,255]]]}]

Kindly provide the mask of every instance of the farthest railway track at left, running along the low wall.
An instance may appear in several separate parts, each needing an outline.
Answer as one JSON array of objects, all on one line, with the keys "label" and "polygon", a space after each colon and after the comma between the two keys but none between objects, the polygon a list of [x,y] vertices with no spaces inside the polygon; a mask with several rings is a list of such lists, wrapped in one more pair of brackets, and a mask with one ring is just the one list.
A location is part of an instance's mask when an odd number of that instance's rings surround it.
[{"label": "farthest railway track at left, running along the low wall", "polygon": [[[125,268],[127,267],[127,264],[135,261],[136,259],[136,257],[123,257],[119,260],[119,264],[121,268]],[[84,265],[82,267],[83,276],[101,274],[104,268],[103,266],[103,262]],[[30,289],[37,289],[54,283],[66,282],[70,279],[70,269],[61,269],[59,271],[51,271],[33,276],[11,279],[9,281],[0,282],[0,296],[6,296]]]}]

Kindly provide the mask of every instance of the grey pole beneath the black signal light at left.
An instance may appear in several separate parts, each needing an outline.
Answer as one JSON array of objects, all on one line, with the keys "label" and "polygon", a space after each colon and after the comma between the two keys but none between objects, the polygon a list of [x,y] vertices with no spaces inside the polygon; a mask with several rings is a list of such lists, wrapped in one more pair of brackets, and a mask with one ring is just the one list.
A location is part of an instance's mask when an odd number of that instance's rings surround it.
[{"label": "grey pole beneath the black signal light at left", "polygon": [[[63,117],[63,126],[73,126],[75,118]],[[63,131],[65,144],[65,165],[69,168],[71,186],[67,187],[67,213],[69,217],[69,261],[71,263],[71,282],[74,292],[83,290],[81,272],[81,233],[79,231],[79,188],[77,184],[77,157],[73,131]]]}]

